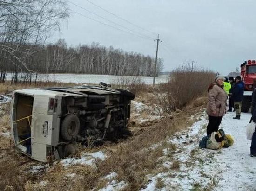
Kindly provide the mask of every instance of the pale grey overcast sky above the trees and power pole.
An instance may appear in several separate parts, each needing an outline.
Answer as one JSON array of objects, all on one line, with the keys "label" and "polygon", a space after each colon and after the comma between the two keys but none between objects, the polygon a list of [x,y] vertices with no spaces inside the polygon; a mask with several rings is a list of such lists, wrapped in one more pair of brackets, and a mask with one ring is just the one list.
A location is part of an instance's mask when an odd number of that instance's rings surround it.
[{"label": "pale grey overcast sky above the trees and power pole", "polygon": [[[69,45],[98,42],[155,57],[154,39],[159,34],[162,43],[158,55],[164,60],[163,71],[194,60],[205,68],[227,75],[244,60],[256,59],[256,0],[90,1],[150,32],[118,19],[87,0],[70,0],[119,25],[69,2],[69,8],[75,12],[137,33],[121,32],[71,11],[68,22],[62,26],[62,33],[55,34],[52,40],[64,38]],[[136,36],[138,33],[147,37],[140,38]]]}]

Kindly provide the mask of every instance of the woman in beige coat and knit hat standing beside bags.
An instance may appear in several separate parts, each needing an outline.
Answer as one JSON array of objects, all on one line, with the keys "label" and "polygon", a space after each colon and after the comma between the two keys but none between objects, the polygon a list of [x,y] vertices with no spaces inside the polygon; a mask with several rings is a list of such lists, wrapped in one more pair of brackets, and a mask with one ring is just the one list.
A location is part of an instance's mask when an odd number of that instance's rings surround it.
[{"label": "woman in beige coat and knit hat standing beside bags", "polygon": [[222,117],[226,112],[227,94],[223,89],[224,79],[224,76],[216,76],[215,81],[208,88],[206,113],[208,114],[209,122],[206,129],[207,135],[218,131]]}]

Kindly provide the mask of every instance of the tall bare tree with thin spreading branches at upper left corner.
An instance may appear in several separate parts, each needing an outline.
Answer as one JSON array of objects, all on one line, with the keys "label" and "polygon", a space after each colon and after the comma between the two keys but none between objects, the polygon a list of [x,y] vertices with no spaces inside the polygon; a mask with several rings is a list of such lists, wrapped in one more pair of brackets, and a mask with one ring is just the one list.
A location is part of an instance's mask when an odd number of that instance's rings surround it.
[{"label": "tall bare tree with thin spreading branches at upper left corner", "polygon": [[44,45],[68,16],[66,0],[0,0],[0,57],[30,72],[26,60],[38,51],[36,45]]}]

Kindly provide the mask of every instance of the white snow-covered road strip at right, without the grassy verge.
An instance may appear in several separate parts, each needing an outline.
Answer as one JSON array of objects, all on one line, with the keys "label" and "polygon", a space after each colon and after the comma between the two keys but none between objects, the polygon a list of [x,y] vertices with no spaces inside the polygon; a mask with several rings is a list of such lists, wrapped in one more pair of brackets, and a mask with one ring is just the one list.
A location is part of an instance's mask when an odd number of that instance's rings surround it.
[{"label": "white snow-covered road strip at right, without the grassy verge", "polygon": [[234,115],[235,112],[228,113],[222,121],[223,129],[234,137],[235,143],[216,156],[223,171],[216,190],[255,191],[256,158],[249,156],[251,141],[246,140],[246,125],[251,114],[242,113],[241,120],[232,119]]}]

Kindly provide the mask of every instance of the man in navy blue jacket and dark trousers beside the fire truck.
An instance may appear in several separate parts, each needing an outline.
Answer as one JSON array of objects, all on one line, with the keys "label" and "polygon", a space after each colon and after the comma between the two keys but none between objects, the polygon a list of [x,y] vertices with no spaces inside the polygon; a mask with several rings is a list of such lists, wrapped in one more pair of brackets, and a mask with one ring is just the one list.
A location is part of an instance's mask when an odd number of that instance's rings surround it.
[{"label": "man in navy blue jacket and dark trousers beside the fire truck", "polygon": [[237,76],[235,78],[236,84],[233,88],[231,88],[231,96],[234,100],[234,107],[236,109],[236,117],[233,119],[240,119],[241,116],[241,108],[242,108],[242,101],[243,101],[243,91],[244,91],[244,83],[241,81],[241,77]]}]

